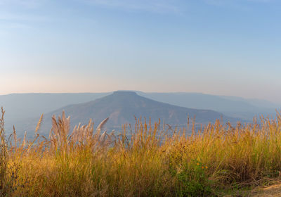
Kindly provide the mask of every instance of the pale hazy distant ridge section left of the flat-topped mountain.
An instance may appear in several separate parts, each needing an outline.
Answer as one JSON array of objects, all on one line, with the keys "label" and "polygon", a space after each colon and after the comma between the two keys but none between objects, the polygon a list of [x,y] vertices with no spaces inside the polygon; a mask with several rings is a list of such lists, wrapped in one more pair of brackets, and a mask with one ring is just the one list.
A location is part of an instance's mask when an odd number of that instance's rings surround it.
[{"label": "pale hazy distant ridge section left of the flat-topped mountain", "polygon": [[30,120],[36,121],[42,113],[49,113],[53,110],[74,103],[85,103],[101,98],[110,93],[30,93],[30,94],[7,94],[0,95],[0,107],[3,106],[5,113],[6,132],[13,131],[13,125],[18,132],[24,132]]}]

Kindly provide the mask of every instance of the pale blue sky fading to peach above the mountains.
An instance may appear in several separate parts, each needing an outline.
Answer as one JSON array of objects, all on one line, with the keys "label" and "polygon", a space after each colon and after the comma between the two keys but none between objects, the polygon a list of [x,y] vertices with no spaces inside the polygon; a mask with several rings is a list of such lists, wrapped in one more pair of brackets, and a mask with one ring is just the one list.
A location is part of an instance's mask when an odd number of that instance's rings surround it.
[{"label": "pale blue sky fading to peach above the mountains", "polygon": [[0,0],[0,94],[118,89],[281,103],[280,0]]}]

